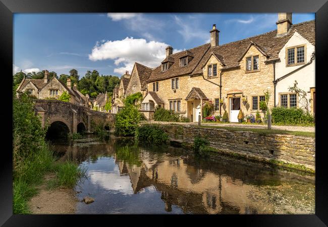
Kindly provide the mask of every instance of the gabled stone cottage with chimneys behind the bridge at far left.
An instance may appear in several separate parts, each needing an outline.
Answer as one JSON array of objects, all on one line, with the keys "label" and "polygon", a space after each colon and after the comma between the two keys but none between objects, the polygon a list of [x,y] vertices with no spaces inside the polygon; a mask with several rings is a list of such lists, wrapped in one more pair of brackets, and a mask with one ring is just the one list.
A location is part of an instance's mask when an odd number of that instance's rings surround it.
[{"label": "gabled stone cottage with chimneys behind the bridge at far left", "polygon": [[49,72],[45,70],[43,79],[26,79],[24,77],[16,90],[17,94],[28,91],[38,99],[58,99],[66,91],[71,96],[71,103],[83,106],[89,105],[88,97],[77,89],[76,84],[72,88],[70,78],[64,84],[56,77],[48,79],[48,76]]}]

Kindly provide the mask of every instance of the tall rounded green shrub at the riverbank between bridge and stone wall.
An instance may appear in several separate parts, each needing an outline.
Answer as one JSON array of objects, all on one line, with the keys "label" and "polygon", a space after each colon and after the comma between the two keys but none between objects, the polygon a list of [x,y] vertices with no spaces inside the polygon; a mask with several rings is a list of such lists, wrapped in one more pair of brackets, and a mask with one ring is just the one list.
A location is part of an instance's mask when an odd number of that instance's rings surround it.
[{"label": "tall rounded green shrub at the riverbank between bridge and stone wall", "polygon": [[133,136],[141,118],[141,113],[136,106],[124,106],[116,115],[116,133],[123,136]]}]

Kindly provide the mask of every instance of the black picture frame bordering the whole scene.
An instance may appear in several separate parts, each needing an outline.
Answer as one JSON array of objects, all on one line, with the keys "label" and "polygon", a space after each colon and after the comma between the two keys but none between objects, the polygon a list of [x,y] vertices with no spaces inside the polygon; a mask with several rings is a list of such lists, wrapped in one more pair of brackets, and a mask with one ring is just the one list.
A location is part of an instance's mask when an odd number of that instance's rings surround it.
[{"label": "black picture frame bordering the whole scene", "polygon": [[[3,226],[62,226],[68,225],[71,221],[74,225],[94,225],[94,221],[104,221],[106,225],[114,224],[114,220],[120,219],[121,224],[126,224],[127,220],[132,224],[163,224],[165,222],[174,224],[172,219],[182,218],[184,221],[200,224],[222,224],[227,221],[229,225],[240,222],[243,226],[326,226],[328,225],[328,178],[326,167],[326,151],[324,147],[325,125],[323,113],[325,105],[316,105],[316,176],[315,176],[315,214],[311,215],[13,215],[12,200],[12,149],[10,134],[12,128],[12,83],[10,75],[13,70],[13,13],[107,13],[107,12],[186,12],[186,13],[316,13],[316,101],[324,103],[326,95],[324,91],[324,77],[327,75],[327,65],[324,61],[328,59],[328,2],[326,0],[306,1],[306,0],[257,0],[257,1],[197,1],[188,2],[170,1],[153,2],[142,4],[140,1],[128,3],[126,1],[110,2],[105,0],[93,1],[51,1],[51,0],[0,0],[0,58],[3,69],[6,73],[2,75],[4,88],[2,131],[7,134],[8,139],[3,140],[6,144],[2,150],[1,165],[1,211],[0,224]],[[159,7],[160,6],[160,7]],[[160,11],[159,11],[160,10]],[[7,85],[6,85],[7,84]],[[7,90],[8,89],[8,90]],[[321,102],[322,101],[322,102]],[[128,218],[127,218],[128,217]],[[150,222],[151,219],[160,219],[160,222]],[[167,220],[168,219],[168,220]],[[142,221],[142,222],[140,222]],[[149,221],[146,223],[145,221]]]}]

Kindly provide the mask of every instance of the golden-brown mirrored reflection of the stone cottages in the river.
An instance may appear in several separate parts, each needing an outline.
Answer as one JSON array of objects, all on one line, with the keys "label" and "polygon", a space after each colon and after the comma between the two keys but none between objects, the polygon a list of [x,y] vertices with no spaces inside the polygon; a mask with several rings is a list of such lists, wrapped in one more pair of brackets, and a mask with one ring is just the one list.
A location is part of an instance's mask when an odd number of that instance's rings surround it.
[{"label": "golden-brown mirrored reflection of the stone cottages in the river", "polygon": [[[149,152],[141,152],[142,164],[119,164],[120,173],[128,174],[134,193],[151,185],[161,192],[165,210],[179,206],[185,213],[271,213],[273,207],[248,198],[256,187],[225,174],[213,173],[181,157],[167,156],[157,161]],[[154,161],[156,160],[156,161]],[[265,210],[263,208],[266,207]],[[270,208],[270,210],[268,210]]]}]

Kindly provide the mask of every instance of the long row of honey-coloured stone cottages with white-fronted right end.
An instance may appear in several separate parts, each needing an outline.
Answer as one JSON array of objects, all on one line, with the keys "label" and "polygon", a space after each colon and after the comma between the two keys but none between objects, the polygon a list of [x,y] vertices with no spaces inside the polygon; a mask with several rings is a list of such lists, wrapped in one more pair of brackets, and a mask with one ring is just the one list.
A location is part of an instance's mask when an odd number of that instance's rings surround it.
[{"label": "long row of honey-coloured stone cottages with white-fronted right end", "polygon": [[[293,25],[291,13],[279,13],[276,24],[277,30],[223,45],[213,25],[210,43],[175,54],[168,46],[161,64],[147,68],[146,87],[132,72],[126,93],[142,91],[142,111],[161,105],[191,122],[202,116],[206,101],[214,104],[214,115],[227,111],[230,122],[238,122],[240,109],[244,115],[255,115],[261,112],[264,91],[271,93],[269,108],[300,106],[298,97],[288,91],[295,80],[315,100],[315,21]],[[137,63],[133,71],[139,72],[136,68]],[[314,103],[310,103],[312,112]]]}]

